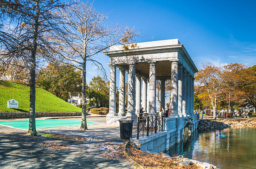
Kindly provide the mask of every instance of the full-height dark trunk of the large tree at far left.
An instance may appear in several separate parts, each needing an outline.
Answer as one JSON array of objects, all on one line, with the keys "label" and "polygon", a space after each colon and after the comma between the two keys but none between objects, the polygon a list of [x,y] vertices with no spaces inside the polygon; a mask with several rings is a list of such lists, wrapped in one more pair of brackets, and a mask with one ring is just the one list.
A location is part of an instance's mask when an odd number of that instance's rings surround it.
[{"label": "full-height dark trunk of the large tree at far left", "polygon": [[30,68],[30,100],[29,100],[29,127],[27,135],[36,136],[36,48],[38,36],[39,4],[36,2],[35,30],[33,36],[33,48],[31,50]]}]

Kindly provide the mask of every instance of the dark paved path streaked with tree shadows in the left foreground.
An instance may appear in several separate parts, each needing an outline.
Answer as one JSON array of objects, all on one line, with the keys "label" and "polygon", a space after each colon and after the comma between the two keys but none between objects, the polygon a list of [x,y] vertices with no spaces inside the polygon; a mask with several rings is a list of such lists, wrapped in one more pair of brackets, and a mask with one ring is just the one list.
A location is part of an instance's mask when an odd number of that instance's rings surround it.
[{"label": "dark paved path streaked with tree shadows in the left foreground", "polygon": [[[49,150],[38,147],[43,142],[69,145],[67,150]],[[22,134],[0,135],[1,169],[128,169],[133,163],[100,156],[105,150],[81,147],[85,142],[67,141],[46,137],[29,137]]]}]

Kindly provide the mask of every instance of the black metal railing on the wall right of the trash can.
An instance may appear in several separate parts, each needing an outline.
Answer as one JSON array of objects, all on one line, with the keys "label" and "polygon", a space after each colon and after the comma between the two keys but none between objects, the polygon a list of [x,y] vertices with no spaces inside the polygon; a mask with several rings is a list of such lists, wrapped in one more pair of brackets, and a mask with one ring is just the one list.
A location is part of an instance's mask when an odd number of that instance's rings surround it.
[{"label": "black metal railing on the wall right of the trash can", "polygon": [[153,134],[163,131],[164,126],[164,116],[142,116],[137,118],[137,139],[139,136],[144,137],[149,135],[149,133]]}]

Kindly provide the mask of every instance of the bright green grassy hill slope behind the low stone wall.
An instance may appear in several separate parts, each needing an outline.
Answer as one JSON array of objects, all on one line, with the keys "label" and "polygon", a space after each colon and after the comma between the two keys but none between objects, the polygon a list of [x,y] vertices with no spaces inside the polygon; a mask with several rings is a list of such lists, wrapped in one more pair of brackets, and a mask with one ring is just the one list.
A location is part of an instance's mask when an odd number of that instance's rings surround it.
[{"label": "bright green grassy hill slope behind the low stone wall", "polygon": [[[28,112],[29,92],[27,85],[0,81],[0,112]],[[8,108],[7,102],[15,99],[19,108]],[[44,89],[36,88],[36,112],[81,112],[78,108]]]}]

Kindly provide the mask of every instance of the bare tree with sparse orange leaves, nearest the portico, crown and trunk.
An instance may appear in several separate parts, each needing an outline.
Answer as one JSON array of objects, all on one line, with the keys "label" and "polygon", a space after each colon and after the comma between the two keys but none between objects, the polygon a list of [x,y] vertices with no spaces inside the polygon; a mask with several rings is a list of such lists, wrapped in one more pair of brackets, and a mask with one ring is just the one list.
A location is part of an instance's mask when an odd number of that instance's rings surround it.
[{"label": "bare tree with sparse orange leaves, nearest the portico, crown and trunk", "polygon": [[[118,44],[129,44],[138,35],[134,29],[106,23],[107,14],[95,11],[92,3],[75,3],[59,11],[64,18],[60,23],[65,34],[56,36],[60,62],[82,70],[82,123],[80,129],[87,129],[86,123],[86,64],[90,61],[105,75],[105,69],[97,61],[97,54]],[[126,46],[124,46],[126,47]],[[55,58],[56,59],[56,58]],[[106,76],[106,75],[105,75]]]}]

